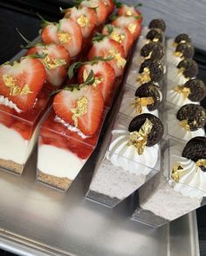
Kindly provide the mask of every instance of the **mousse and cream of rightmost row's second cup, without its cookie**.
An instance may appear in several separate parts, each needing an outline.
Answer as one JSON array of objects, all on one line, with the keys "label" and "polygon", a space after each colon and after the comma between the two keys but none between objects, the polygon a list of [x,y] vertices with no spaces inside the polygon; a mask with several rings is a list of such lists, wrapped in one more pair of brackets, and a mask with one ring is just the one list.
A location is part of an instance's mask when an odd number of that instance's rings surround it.
[{"label": "mousse and cream of rightmost row's second cup, without its cookie", "polygon": [[189,141],[196,136],[205,136],[204,129],[198,129],[194,132],[186,131],[180,124],[180,120],[176,118],[177,110],[168,110],[167,111],[167,130],[168,136],[171,136],[175,139],[182,139]]}]

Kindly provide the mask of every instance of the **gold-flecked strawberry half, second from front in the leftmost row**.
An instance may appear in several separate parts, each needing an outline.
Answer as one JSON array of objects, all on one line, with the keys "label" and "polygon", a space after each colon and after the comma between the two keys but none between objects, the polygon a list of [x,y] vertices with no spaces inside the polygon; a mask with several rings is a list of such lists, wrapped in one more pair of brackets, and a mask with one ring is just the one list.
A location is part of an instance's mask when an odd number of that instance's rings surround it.
[{"label": "gold-flecked strawberry half, second from front in the leftmost row", "polygon": [[31,55],[36,53],[41,57],[45,54],[45,57],[39,60],[45,66],[46,81],[54,86],[59,86],[64,81],[67,68],[70,64],[69,52],[64,46],[38,44],[37,46],[31,47],[26,54]]}]

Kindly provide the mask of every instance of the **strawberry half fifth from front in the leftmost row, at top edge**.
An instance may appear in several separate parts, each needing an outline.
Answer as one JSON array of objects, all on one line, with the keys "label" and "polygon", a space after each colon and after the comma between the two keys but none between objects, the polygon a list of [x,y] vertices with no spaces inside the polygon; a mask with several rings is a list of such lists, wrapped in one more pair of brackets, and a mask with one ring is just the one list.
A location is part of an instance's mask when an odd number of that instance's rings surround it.
[{"label": "strawberry half fifth from front in the leftmost row, at top edge", "polygon": [[97,15],[97,25],[102,25],[106,22],[107,8],[103,0],[85,0],[82,1],[80,6],[93,8]]}]

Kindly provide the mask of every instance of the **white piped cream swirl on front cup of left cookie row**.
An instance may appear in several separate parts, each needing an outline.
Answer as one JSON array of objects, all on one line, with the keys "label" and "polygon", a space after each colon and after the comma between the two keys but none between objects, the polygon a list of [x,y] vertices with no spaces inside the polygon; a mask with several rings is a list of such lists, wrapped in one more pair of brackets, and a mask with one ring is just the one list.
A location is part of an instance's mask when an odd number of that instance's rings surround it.
[{"label": "white piped cream swirl on front cup of left cookie row", "polygon": [[119,130],[113,130],[113,141],[109,146],[106,158],[113,166],[122,167],[131,174],[149,174],[158,160],[159,146],[146,146],[144,153],[139,155],[134,146],[127,146],[129,132],[127,127],[119,125]]}]

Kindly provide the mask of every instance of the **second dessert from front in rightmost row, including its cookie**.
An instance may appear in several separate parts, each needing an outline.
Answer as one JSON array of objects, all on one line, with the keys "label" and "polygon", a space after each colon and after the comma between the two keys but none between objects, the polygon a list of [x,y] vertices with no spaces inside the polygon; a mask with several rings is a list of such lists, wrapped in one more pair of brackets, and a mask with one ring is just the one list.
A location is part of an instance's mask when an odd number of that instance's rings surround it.
[{"label": "second dessert from front in rightmost row, including its cookie", "polygon": [[179,110],[167,111],[167,137],[188,141],[196,136],[205,136],[206,110],[199,104],[189,103]]}]

